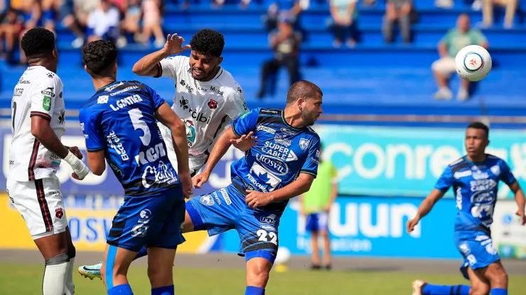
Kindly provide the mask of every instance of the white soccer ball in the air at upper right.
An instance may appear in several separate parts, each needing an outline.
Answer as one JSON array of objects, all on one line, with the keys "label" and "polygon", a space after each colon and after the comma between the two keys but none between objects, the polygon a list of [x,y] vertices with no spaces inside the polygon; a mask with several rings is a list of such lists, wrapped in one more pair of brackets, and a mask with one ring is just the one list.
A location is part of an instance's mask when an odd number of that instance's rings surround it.
[{"label": "white soccer ball in the air at upper right", "polygon": [[491,55],[478,45],[462,48],[455,57],[455,69],[462,79],[471,82],[481,81],[491,70]]}]

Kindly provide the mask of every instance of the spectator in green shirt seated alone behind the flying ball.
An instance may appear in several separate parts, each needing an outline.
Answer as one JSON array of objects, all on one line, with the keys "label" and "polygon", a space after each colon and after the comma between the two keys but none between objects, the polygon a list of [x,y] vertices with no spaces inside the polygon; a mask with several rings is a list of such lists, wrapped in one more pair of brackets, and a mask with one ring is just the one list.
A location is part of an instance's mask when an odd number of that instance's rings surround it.
[{"label": "spectator in green shirt seated alone behind the flying ball", "polygon": [[[439,55],[440,59],[433,62],[431,69],[433,70],[436,83],[439,91],[435,93],[435,99],[451,99],[453,94],[447,85],[447,79],[451,74],[456,72],[455,56],[462,48],[468,45],[481,45],[483,48],[488,48],[488,40],[484,37],[480,30],[471,28],[471,21],[466,13],[458,16],[456,21],[456,28],[449,30],[449,32],[440,40]],[[461,79],[461,87],[458,89],[456,98],[465,101],[469,97],[469,82]]]}]

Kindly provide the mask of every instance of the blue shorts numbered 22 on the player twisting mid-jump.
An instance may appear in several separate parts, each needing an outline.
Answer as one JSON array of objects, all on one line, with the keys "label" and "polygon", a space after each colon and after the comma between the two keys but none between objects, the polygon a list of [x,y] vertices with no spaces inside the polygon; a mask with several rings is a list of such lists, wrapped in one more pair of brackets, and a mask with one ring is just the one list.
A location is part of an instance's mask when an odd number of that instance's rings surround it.
[{"label": "blue shorts numbered 22 on the player twisting mid-jump", "polygon": [[249,208],[245,194],[232,184],[211,194],[196,196],[186,202],[186,211],[194,230],[208,230],[218,235],[235,229],[240,235],[240,252],[246,260],[262,257],[274,263],[278,250],[278,227],[281,212]]}]

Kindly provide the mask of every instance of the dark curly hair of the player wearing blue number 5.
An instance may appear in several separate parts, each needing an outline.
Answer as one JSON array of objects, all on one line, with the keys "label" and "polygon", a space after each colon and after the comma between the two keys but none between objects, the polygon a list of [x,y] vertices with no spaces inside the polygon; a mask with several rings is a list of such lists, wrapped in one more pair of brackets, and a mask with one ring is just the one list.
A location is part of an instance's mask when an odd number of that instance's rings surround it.
[{"label": "dark curly hair of the player wearing blue number 5", "polygon": [[109,41],[96,40],[82,48],[82,62],[88,74],[97,77],[109,77],[117,62],[117,48]]}]

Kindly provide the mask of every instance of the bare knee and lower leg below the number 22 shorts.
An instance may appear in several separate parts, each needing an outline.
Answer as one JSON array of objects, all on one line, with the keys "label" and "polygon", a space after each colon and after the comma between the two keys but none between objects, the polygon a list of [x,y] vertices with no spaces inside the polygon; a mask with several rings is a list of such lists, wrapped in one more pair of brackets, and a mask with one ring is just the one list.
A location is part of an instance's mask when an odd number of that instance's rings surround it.
[{"label": "bare knee and lower leg below the number 22 shorts", "polygon": [[[267,256],[263,258],[264,256]],[[246,252],[247,259],[247,289],[245,295],[264,295],[269,282],[269,273],[275,255],[271,252],[256,250]]]}]

